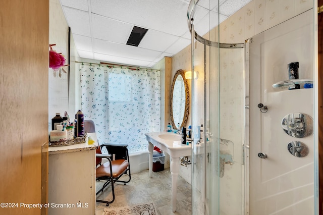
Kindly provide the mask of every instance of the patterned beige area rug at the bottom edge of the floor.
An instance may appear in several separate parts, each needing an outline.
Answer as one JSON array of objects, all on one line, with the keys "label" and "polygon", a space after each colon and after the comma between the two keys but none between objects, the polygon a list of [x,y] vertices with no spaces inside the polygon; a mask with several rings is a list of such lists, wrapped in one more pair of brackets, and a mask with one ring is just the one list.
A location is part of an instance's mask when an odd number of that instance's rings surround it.
[{"label": "patterned beige area rug at the bottom edge of the floor", "polygon": [[102,215],[157,215],[153,203],[127,205],[124,207],[105,207]]}]

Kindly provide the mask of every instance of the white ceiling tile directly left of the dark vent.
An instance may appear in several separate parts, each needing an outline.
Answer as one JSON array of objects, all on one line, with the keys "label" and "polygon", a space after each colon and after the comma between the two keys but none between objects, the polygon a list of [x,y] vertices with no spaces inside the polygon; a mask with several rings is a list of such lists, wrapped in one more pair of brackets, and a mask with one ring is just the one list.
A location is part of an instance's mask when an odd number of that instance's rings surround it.
[{"label": "white ceiling tile directly left of the dark vent", "polygon": [[132,27],[132,25],[124,22],[92,14],[93,38],[125,44]]}]

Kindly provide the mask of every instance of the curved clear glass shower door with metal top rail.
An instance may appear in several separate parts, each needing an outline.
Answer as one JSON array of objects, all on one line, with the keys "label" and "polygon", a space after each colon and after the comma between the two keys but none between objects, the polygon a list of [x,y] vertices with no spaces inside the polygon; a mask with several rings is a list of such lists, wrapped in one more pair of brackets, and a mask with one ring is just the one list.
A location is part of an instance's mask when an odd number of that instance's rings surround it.
[{"label": "curved clear glass shower door with metal top rail", "polygon": [[[219,2],[194,4],[212,9]],[[191,80],[192,214],[244,214],[244,44],[220,43],[217,13],[195,23],[191,12],[192,71],[199,73]]]}]

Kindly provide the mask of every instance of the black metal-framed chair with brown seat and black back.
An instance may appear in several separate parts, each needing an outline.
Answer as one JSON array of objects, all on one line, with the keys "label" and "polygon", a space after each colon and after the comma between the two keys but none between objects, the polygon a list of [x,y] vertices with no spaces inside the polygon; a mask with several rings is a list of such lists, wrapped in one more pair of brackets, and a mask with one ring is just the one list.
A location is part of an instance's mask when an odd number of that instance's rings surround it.
[{"label": "black metal-framed chair with brown seat and black back", "polygon": [[[89,133],[95,132],[95,124],[92,120],[84,121],[84,130]],[[122,182],[124,185],[130,182],[130,163],[129,163],[129,153],[127,144],[101,144],[96,149],[96,181],[104,180],[106,181],[102,188],[96,192],[98,195],[103,192],[104,188],[111,184],[112,188],[112,200],[100,200],[96,199],[97,202],[106,203],[109,205],[115,200],[115,188],[114,184],[116,182]],[[105,148],[109,154],[102,154],[101,149]],[[108,161],[104,164],[102,163],[102,158],[106,158]],[[127,175],[128,180],[121,180],[121,177]],[[127,179],[127,177],[126,177]]]}]

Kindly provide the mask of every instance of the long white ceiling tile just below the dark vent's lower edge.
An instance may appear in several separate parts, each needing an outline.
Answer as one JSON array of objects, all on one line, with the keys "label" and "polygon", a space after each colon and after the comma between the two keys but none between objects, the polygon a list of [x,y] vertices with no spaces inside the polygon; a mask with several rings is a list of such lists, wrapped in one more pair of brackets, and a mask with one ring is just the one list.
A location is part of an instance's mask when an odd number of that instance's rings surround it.
[{"label": "long white ceiling tile just below the dark vent's lower edge", "polygon": [[149,50],[132,45],[113,43],[99,39],[93,39],[93,51],[106,55],[114,55],[146,61],[153,61],[161,53],[160,51]]}]

